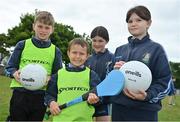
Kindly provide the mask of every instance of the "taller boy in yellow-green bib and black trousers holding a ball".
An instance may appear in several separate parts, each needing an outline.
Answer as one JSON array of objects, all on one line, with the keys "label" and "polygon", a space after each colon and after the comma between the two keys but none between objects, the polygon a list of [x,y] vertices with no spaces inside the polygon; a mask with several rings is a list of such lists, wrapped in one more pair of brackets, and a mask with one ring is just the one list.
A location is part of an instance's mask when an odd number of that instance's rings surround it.
[{"label": "taller boy in yellow-green bib and black trousers holding a ball", "polygon": [[43,120],[46,111],[45,90],[27,90],[22,87],[19,77],[20,69],[30,63],[41,64],[47,70],[49,77],[62,67],[61,52],[49,39],[53,29],[52,14],[46,11],[38,12],[33,24],[35,36],[18,42],[10,57],[6,70],[7,74],[13,78],[10,85],[13,95],[8,117],[11,121]]}]

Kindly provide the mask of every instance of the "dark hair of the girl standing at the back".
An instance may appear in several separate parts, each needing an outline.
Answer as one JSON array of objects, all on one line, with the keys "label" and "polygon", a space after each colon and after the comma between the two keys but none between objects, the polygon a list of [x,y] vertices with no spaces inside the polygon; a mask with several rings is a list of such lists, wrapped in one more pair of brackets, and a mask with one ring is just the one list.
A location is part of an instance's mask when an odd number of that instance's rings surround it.
[{"label": "dark hair of the girl standing at the back", "polygon": [[109,33],[108,33],[107,29],[103,26],[97,26],[92,30],[91,38],[94,38],[96,36],[100,36],[101,38],[106,40],[106,42],[109,41]]}]

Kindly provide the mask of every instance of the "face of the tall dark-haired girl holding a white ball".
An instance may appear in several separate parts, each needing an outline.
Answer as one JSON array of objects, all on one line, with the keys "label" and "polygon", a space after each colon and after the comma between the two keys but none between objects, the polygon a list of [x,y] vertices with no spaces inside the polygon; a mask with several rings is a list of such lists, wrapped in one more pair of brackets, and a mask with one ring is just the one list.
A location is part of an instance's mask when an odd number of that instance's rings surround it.
[{"label": "face of the tall dark-haired girl holding a white ball", "polygon": [[136,38],[142,39],[148,31],[151,21],[146,21],[133,13],[128,21],[128,30]]}]

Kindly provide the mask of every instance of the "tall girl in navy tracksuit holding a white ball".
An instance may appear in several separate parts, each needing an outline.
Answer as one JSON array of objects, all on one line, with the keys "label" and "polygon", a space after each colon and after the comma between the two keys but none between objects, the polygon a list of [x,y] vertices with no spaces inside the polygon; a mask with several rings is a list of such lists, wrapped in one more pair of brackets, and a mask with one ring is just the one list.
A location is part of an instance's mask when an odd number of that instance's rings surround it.
[{"label": "tall girl in navy tracksuit holding a white ball", "polygon": [[127,61],[141,61],[151,70],[152,83],[146,91],[134,93],[125,89],[113,97],[112,121],[158,121],[161,99],[167,95],[171,79],[168,59],[163,47],[150,39],[151,14],[145,6],[130,9],[126,22],[132,36],[116,49],[114,68]]}]

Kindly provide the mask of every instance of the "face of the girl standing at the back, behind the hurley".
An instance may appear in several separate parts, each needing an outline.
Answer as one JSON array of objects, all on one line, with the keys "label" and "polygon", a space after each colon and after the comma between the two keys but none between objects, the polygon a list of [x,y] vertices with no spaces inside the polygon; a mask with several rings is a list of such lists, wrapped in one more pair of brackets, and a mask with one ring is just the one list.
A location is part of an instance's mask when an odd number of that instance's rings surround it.
[{"label": "face of the girl standing at the back, behind the hurley", "polygon": [[104,52],[106,44],[106,40],[100,36],[95,36],[92,38],[92,48],[96,53]]}]

